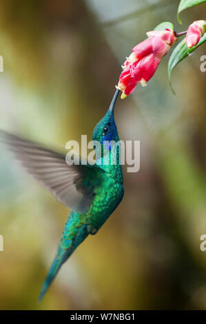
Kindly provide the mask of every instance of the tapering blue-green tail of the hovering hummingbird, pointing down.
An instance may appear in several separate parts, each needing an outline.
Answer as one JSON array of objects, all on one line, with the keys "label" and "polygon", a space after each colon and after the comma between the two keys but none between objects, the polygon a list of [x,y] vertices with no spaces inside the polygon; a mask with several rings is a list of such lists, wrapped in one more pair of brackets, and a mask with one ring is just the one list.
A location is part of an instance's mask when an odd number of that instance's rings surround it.
[{"label": "tapering blue-green tail of the hovering hummingbird, pointing down", "polygon": [[[87,237],[87,227],[85,224],[79,224],[79,214],[74,212],[70,212],[68,216],[68,220],[65,223],[65,227],[63,229],[63,234],[61,237],[61,242],[59,243],[58,250],[56,252],[55,259],[50,267],[50,271],[48,276],[46,277],[43,286],[41,288],[41,292],[39,294],[39,298],[37,303],[40,303],[43,299],[43,296],[48,291],[52,281],[56,277],[56,274],[59,272],[61,265],[67,261],[70,255],[74,252],[76,247]],[[82,215],[81,215],[82,217]]]}]

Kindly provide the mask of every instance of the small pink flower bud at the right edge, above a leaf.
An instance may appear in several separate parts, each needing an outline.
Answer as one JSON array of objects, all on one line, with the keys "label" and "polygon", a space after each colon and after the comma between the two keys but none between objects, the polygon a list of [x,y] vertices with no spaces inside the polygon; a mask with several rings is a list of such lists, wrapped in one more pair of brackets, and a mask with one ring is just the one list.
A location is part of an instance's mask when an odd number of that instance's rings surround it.
[{"label": "small pink flower bud at the right edge, above a leaf", "polygon": [[204,20],[198,20],[194,21],[192,23],[188,30],[186,35],[186,45],[187,48],[192,48],[192,46],[195,46],[200,41],[200,38],[205,34],[205,21]]}]

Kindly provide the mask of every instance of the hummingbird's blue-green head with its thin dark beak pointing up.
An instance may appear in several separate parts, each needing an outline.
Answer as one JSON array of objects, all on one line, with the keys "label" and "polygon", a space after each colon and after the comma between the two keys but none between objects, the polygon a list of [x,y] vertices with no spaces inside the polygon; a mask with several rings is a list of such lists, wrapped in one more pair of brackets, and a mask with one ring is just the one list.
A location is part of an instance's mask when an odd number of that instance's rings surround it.
[{"label": "hummingbird's blue-green head with its thin dark beak pointing up", "polygon": [[93,141],[99,141],[102,145],[104,141],[119,141],[114,121],[114,105],[118,94],[119,90],[116,90],[109,110],[94,128]]}]

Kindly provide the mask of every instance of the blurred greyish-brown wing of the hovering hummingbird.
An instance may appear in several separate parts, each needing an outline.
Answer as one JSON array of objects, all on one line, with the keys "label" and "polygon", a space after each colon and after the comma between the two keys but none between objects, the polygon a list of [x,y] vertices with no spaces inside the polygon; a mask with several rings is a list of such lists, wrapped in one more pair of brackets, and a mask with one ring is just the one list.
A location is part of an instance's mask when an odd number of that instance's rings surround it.
[{"label": "blurred greyish-brown wing of the hovering hummingbird", "polygon": [[90,179],[99,179],[98,174],[103,170],[92,165],[68,165],[65,154],[43,148],[8,132],[0,131],[0,140],[21,161],[28,173],[50,190],[56,199],[75,212],[87,212],[94,196]]}]

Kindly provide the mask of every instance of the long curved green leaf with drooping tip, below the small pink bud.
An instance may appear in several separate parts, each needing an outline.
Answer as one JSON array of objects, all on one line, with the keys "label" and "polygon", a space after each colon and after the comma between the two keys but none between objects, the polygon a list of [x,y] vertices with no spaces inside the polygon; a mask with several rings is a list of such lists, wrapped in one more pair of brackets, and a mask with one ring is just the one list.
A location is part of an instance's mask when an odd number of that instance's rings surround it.
[{"label": "long curved green leaf with drooping tip, below the small pink bud", "polygon": [[[172,88],[171,83],[171,73],[172,70],[180,63],[187,55],[192,53],[198,46],[202,45],[206,41],[206,33],[203,35],[203,37],[200,39],[199,43],[196,46],[193,46],[192,48],[187,48],[186,45],[186,38],[181,41],[178,45],[176,45],[176,48],[172,52],[171,57],[169,57],[169,63],[168,63],[168,77],[169,77],[169,84]],[[174,89],[172,88],[172,91],[174,92]],[[175,92],[174,92],[175,94]]]}]

